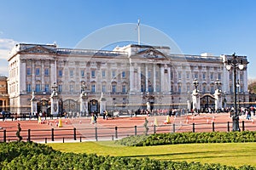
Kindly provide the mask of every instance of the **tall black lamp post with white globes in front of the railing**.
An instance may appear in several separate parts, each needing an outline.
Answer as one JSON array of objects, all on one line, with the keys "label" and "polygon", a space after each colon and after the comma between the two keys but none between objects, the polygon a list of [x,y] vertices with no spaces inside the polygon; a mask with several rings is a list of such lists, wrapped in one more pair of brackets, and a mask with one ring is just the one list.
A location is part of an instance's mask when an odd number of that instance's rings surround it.
[{"label": "tall black lamp post with white globes in front of the railing", "polygon": [[232,120],[233,120],[233,126],[232,126],[232,130],[233,131],[240,131],[240,127],[239,127],[239,115],[237,114],[237,105],[236,105],[236,70],[243,70],[244,65],[242,63],[242,59],[237,59],[236,54],[234,53],[232,55],[231,59],[228,59],[225,63],[226,63],[226,69],[228,71],[231,70],[231,68],[233,68],[234,71],[234,79],[233,79],[233,85],[234,85],[234,106],[235,106],[235,113],[233,114]]}]

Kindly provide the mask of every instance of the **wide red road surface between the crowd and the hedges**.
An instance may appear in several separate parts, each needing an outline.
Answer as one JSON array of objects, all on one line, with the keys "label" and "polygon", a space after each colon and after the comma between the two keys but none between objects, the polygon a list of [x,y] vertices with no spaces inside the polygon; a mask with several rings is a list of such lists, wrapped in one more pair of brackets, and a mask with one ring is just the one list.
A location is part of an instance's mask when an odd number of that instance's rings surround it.
[{"label": "wide red road surface between the crowd and the hedges", "polygon": [[[102,139],[120,139],[122,137],[134,134],[144,133],[145,118],[148,120],[148,133],[172,133],[172,132],[192,132],[193,123],[195,123],[195,132],[212,132],[212,122],[214,122],[214,131],[228,131],[228,122],[230,122],[230,131],[232,130],[232,119],[229,114],[201,114],[200,116],[171,116],[169,123],[166,116],[137,116],[137,117],[117,117],[104,120],[102,117],[97,119],[96,124],[90,122],[90,117],[61,119],[62,127],[56,126],[58,119],[46,120],[44,123],[38,123],[37,120],[0,122],[0,141],[3,141],[4,130],[6,131],[6,141],[16,140],[15,133],[17,124],[20,123],[21,136],[23,140],[28,138],[28,129],[30,129],[31,140],[35,142],[52,141],[62,142],[63,140],[102,140]],[[256,117],[253,117],[256,121]],[[244,130],[256,130],[256,122],[246,120],[245,116],[240,117],[240,127],[242,130],[242,121],[244,121]],[[175,126],[173,125],[175,124]],[[155,125],[155,127],[154,127]],[[136,127],[137,126],[137,127]],[[116,128],[117,127],[117,128]],[[75,128],[75,132],[74,132]],[[53,129],[53,130],[52,130]],[[74,133],[76,134],[74,136]],[[97,135],[96,135],[97,134]]]}]

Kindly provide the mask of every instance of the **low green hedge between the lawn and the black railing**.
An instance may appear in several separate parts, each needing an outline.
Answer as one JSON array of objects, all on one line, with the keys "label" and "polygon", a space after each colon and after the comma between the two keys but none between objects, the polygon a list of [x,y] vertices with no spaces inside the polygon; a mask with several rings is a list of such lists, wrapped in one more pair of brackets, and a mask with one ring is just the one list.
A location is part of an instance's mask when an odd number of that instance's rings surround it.
[{"label": "low green hedge between the lawn and the black railing", "polygon": [[129,136],[116,141],[117,144],[127,146],[241,142],[256,142],[256,132],[157,133],[151,135]]}]

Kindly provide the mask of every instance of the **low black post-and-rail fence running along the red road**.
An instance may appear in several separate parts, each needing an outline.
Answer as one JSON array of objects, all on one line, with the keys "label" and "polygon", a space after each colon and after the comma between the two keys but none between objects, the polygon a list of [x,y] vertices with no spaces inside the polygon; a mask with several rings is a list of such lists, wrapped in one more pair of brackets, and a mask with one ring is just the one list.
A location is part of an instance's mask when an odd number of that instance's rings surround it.
[{"label": "low black post-and-rail fence running along the red road", "polygon": [[[87,128],[51,128],[51,129],[27,129],[22,130],[20,135],[23,141],[34,142],[65,142],[65,141],[98,141],[122,139],[131,135],[153,133],[183,133],[183,132],[230,132],[232,122],[212,122],[201,124],[166,124],[160,126],[148,126],[146,132],[143,126],[134,127],[87,127]],[[256,124],[252,122],[240,122],[241,131],[255,131]],[[15,130],[0,130],[0,142],[17,140]]]}]

